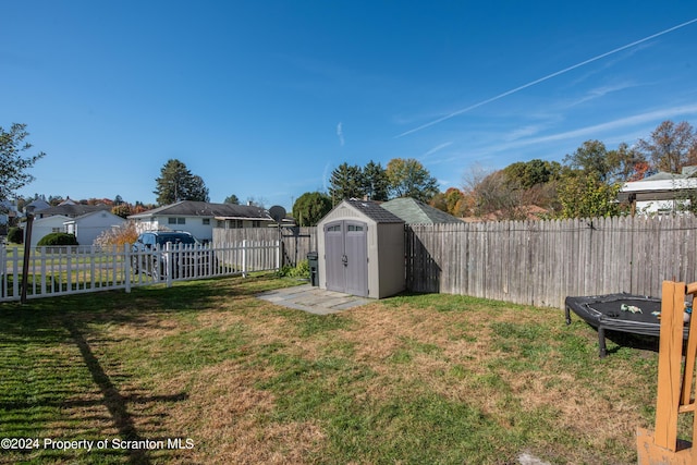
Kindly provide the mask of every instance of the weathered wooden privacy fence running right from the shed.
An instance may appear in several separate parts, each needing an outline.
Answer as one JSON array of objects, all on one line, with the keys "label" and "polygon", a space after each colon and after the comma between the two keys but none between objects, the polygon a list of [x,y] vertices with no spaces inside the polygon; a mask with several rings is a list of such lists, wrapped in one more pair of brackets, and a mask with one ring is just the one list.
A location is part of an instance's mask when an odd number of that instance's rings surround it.
[{"label": "weathered wooden privacy fence running right from the shed", "polygon": [[406,281],[441,292],[564,307],[570,295],[660,297],[697,279],[697,219],[621,217],[406,228]]}]

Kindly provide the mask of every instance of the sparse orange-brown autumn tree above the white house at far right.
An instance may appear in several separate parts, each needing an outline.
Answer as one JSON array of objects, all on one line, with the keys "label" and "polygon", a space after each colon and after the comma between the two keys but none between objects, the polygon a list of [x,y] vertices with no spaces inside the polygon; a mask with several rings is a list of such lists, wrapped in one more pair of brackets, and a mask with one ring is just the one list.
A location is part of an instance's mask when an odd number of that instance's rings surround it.
[{"label": "sparse orange-brown autumn tree above the white house at far right", "polygon": [[680,173],[683,167],[697,161],[697,133],[686,121],[677,125],[663,121],[650,140],[639,139],[637,146],[660,171]]}]

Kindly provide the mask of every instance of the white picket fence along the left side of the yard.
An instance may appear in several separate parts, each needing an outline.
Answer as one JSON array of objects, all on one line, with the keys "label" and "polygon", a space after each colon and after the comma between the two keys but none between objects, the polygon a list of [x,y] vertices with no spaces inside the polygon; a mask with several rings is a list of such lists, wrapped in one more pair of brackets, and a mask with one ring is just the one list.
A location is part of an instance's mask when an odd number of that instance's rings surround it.
[{"label": "white picket fence along the left side of the yard", "polygon": [[[278,241],[242,241],[210,246],[167,244],[162,249],[133,252],[122,247],[36,247],[26,262],[26,298],[123,289],[227,276],[246,276],[280,268]],[[25,273],[24,252],[0,248],[0,302],[20,301]]]}]

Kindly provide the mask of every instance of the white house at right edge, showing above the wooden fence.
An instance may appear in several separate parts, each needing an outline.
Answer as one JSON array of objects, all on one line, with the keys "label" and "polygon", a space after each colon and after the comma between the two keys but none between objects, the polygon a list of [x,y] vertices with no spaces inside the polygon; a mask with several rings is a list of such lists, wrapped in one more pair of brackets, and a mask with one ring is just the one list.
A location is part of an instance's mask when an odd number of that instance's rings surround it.
[{"label": "white house at right edge, showing above the wooden fence", "polygon": [[624,183],[619,201],[632,204],[638,215],[670,215],[683,211],[697,194],[697,167],[684,167],[680,174],[658,172],[641,181]]}]

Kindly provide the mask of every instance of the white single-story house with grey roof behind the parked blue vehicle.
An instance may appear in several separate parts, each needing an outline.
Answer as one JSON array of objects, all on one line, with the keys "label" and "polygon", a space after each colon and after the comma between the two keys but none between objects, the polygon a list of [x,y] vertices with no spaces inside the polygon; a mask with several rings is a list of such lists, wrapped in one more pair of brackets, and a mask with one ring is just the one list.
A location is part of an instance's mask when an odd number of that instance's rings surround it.
[{"label": "white single-story house with grey roof behind the parked blue vehicle", "polygon": [[207,243],[213,238],[213,227],[223,229],[261,228],[273,223],[264,208],[253,205],[209,204],[181,200],[137,215],[131,215],[138,232],[186,231]]}]

